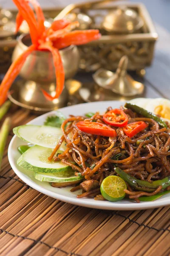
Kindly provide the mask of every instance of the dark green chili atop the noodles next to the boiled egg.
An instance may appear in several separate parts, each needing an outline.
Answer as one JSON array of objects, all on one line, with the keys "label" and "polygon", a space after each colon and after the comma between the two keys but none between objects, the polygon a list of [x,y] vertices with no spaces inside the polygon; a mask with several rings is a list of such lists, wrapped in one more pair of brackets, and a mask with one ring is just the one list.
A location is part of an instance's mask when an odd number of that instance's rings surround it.
[{"label": "dark green chili atop the noodles next to the boiled egg", "polygon": [[151,119],[155,120],[156,122],[158,122],[159,125],[167,128],[166,123],[161,118],[159,118],[159,116],[156,116],[155,114],[145,110],[144,108],[140,108],[139,106],[136,106],[136,105],[128,103],[128,102],[125,104],[125,108],[130,108],[131,110],[135,111],[136,113],[138,113],[142,116],[145,116],[147,118],[151,118]]}]

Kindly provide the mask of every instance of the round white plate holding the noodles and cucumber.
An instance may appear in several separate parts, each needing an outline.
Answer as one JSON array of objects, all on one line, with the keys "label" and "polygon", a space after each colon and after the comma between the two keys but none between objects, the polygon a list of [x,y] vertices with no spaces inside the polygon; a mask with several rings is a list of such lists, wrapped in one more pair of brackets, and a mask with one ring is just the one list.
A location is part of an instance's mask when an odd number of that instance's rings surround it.
[{"label": "round white plate holding the noodles and cucumber", "polygon": [[[119,108],[123,102],[120,101],[107,101],[107,102],[91,102],[85,104],[74,105],[67,108],[61,108],[61,111],[65,116],[69,114],[73,115],[82,115],[87,112],[96,112],[100,111],[103,113],[106,108],[112,106],[112,108]],[[33,125],[42,125],[47,116],[54,115],[55,111],[46,113],[42,116],[39,116],[29,122]],[[141,202],[139,204],[124,199],[118,202],[109,202],[109,201],[96,201],[93,198],[77,198],[76,195],[80,192],[70,192],[71,187],[66,188],[54,188],[49,185],[48,182],[40,182],[36,180],[33,176],[33,172],[26,171],[25,169],[17,166],[17,159],[20,157],[20,153],[17,151],[19,145],[26,144],[20,140],[16,135],[12,138],[11,143],[8,148],[8,159],[11,164],[14,172],[27,183],[32,188],[42,192],[45,195],[51,196],[53,198],[59,199],[61,201],[76,204],[84,207],[97,208],[97,209],[109,209],[109,210],[138,210],[138,209],[148,209],[148,208],[157,208],[163,207],[170,204],[170,195],[164,195],[160,199],[153,202]]]}]

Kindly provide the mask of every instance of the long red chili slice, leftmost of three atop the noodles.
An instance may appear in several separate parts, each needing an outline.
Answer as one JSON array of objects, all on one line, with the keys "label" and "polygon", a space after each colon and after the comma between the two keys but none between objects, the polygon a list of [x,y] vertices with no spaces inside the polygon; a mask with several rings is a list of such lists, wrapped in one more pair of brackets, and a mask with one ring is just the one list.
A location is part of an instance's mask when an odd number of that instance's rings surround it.
[{"label": "long red chili slice, leftmost of three atop the noodles", "polygon": [[84,122],[77,123],[77,128],[89,134],[102,135],[106,137],[116,137],[116,131],[107,125],[99,122]]}]

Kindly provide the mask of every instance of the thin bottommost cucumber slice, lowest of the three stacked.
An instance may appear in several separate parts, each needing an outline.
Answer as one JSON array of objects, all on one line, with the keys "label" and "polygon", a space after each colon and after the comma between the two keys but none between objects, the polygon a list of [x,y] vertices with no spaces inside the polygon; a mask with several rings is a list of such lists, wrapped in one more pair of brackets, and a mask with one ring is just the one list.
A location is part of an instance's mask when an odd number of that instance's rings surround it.
[{"label": "thin bottommost cucumber slice, lowest of the three stacked", "polygon": [[34,172],[34,177],[40,181],[48,181],[48,182],[57,182],[57,183],[67,183],[72,181],[82,180],[83,177],[71,175],[70,177],[56,177],[55,174],[48,174],[42,172]]}]

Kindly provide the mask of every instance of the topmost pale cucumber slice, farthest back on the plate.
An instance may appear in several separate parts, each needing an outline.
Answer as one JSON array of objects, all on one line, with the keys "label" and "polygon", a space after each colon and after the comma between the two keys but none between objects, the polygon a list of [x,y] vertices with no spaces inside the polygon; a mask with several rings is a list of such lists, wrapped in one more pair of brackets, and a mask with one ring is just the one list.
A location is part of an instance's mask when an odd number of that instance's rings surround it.
[{"label": "topmost pale cucumber slice, farthest back on the plate", "polygon": [[[21,140],[46,148],[55,148],[62,137],[60,128],[45,125],[21,125],[15,127],[13,132]],[[62,143],[60,149],[65,150],[65,148],[65,143]]]}]

